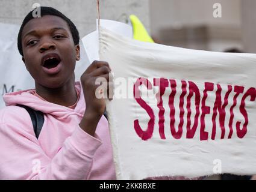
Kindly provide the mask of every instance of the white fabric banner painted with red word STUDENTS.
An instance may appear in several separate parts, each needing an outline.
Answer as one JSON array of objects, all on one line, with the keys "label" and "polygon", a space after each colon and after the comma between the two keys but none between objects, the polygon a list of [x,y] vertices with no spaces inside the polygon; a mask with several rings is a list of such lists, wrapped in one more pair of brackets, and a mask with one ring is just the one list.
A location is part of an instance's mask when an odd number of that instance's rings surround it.
[{"label": "white fabric banner painted with red word STUDENTS", "polygon": [[101,28],[118,179],[256,173],[256,55],[143,43]]}]

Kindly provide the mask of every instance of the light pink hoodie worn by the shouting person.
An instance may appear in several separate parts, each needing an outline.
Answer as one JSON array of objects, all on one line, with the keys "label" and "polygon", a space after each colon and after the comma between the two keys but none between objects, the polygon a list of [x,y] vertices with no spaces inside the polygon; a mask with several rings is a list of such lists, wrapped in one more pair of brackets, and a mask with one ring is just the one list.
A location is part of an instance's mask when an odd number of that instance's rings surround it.
[{"label": "light pink hoodie worn by the shouting person", "polygon": [[[31,90],[4,95],[0,110],[0,179],[116,179],[108,122],[99,121],[92,137],[78,125],[86,108],[80,83],[75,109],[43,101]],[[36,139],[22,104],[44,113]]]}]

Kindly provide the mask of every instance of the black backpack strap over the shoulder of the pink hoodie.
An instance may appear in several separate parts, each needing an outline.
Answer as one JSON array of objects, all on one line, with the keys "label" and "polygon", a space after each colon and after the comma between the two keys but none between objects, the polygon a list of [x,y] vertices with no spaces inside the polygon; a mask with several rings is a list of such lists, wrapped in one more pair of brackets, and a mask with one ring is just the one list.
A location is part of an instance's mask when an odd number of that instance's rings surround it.
[{"label": "black backpack strap over the shoulder of the pink hoodie", "polygon": [[38,110],[31,109],[28,106],[23,106],[21,104],[17,104],[17,106],[24,108],[25,110],[27,110],[28,114],[30,114],[30,118],[34,128],[34,133],[36,134],[36,137],[38,139],[43,127],[43,122],[45,121],[43,113]]}]

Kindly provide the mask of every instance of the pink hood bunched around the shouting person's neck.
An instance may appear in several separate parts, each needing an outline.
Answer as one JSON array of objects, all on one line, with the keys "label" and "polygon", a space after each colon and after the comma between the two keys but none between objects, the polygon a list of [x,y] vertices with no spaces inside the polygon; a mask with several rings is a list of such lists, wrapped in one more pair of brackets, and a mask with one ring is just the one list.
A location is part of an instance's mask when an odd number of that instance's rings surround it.
[{"label": "pink hood bunched around the shouting person's neck", "polygon": [[34,91],[35,89],[10,92],[8,94],[5,94],[3,99],[6,106],[16,106],[17,104],[21,104],[31,107],[34,110],[39,110],[40,112],[56,116],[56,118],[58,119],[66,118],[67,116],[74,113],[79,116],[83,116],[86,109],[83,88],[81,88],[80,82],[75,82],[75,87],[78,92],[80,92],[80,98],[78,99],[78,103],[76,104],[75,109],[70,109],[69,107],[60,106],[58,104],[41,100],[36,95],[32,94],[32,91]]}]

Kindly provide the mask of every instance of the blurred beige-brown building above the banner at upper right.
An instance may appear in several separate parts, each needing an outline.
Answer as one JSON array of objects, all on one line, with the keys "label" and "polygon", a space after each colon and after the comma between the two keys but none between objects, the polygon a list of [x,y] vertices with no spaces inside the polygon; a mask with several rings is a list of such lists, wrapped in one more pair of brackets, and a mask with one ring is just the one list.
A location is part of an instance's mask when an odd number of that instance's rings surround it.
[{"label": "blurred beige-brown building above the banner at upper right", "polygon": [[[213,17],[219,3],[222,17]],[[255,0],[151,0],[151,34],[163,44],[223,51],[256,52]]]}]

